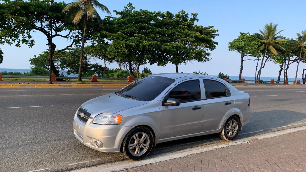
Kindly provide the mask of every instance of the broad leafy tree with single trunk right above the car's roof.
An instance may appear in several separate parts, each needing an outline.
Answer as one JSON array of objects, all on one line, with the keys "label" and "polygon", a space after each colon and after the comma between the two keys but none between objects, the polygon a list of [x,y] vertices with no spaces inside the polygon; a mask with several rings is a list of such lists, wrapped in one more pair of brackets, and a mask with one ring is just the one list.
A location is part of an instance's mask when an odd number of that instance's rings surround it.
[{"label": "broad leafy tree with single trunk right above the car's roof", "polygon": [[[197,13],[188,13],[184,10],[173,15],[169,11],[161,14],[160,26],[162,28],[162,49],[161,54],[175,65],[178,72],[178,65],[191,61],[206,62],[210,60],[210,53],[207,50],[214,50],[218,44],[213,39],[218,36],[218,30],[214,26],[203,27],[196,25],[199,21]],[[162,59],[159,65],[165,65]]]}]

